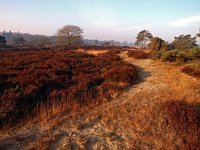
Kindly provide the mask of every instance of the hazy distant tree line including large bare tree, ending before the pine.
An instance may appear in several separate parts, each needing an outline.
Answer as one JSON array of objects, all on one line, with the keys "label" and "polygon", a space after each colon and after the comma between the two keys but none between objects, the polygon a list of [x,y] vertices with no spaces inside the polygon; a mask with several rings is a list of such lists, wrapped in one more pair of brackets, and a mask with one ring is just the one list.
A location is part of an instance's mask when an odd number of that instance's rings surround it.
[{"label": "hazy distant tree line including large bare tree, ending before the pine", "polygon": [[51,46],[134,46],[126,41],[89,40],[83,38],[83,29],[76,25],[65,25],[58,29],[54,36],[20,33],[12,31],[0,32],[0,47],[51,47]]}]

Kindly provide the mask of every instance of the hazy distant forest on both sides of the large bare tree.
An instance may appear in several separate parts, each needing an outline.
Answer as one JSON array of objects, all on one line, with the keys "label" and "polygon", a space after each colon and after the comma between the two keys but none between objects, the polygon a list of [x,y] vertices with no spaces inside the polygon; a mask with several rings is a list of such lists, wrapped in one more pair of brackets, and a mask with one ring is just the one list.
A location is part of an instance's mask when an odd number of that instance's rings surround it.
[{"label": "hazy distant forest on both sides of the large bare tree", "polygon": [[[48,47],[56,45],[56,36],[46,36],[40,34],[30,34],[12,31],[0,32],[0,35],[6,38],[7,45],[20,46],[20,45],[31,45],[34,47]],[[134,43],[127,41],[119,42],[114,40],[90,40],[83,39],[83,45],[88,46],[134,46]]]}]

